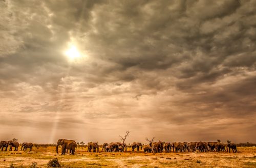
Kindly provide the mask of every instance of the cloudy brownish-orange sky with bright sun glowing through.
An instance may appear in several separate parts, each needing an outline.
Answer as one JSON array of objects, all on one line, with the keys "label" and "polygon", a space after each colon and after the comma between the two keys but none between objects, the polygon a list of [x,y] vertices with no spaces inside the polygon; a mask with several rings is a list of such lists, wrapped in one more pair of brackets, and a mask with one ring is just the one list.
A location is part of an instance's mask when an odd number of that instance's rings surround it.
[{"label": "cloudy brownish-orange sky with bright sun glowing through", "polygon": [[0,11],[1,140],[256,142],[256,1]]}]

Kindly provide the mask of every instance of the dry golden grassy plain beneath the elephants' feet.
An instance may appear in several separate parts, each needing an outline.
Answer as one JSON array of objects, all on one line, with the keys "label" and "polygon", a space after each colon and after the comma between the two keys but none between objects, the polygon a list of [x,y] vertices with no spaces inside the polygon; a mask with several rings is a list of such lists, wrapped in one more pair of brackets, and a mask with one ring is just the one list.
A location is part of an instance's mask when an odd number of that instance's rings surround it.
[{"label": "dry golden grassy plain beneath the elephants' feet", "polygon": [[[47,167],[57,158],[61,167],[256,167],[256,147],[238,147],[238,153],[182,152],[144,153],[87,152],[78,147],[75,155],[56,154],[56,147],[32,151],[0,151],[0,167]],[[101,149],[100,149],[101,151]]]}]

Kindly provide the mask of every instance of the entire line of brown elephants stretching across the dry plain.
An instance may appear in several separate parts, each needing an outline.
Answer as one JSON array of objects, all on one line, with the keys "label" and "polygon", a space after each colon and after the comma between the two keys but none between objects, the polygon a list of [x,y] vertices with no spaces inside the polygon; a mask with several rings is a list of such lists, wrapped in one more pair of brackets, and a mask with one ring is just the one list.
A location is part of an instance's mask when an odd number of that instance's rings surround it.
[{"label": "entire line of brown elephants stretching across the dry plain", "polygon": [[[130,145],[130,144],[129,144]],[[16,141],[1,141],[0,142],[0,149],[5,148],[7,151],[8,146],[10,147],[9,150],[12,150],[12,147],[14,147],[14,151],[18,150],[19,143]],[[56,145],[56,152],[58,153],[58,147],[61,146],[61,154],[68,153],[68,150],[71,154],[75,154],[75,149],[77,147],[77,143],[74,140],[68,140],[68,139],[58,139],[57,145]],[[33,144],[32,143],[23,143],[22,148],[20,150],[26,150],[27,148],[32,150]],[[99,145],[98,143],[90,142],[87,145],[88,150],[87,152],[99,152]],[[131,146],[132,151],[139,152],[144,148],[144,152],[146,153],[157,153],[157,152],[230,152],[230,149],[234,153],[237,151],[236,144],[228,143],[223,144],[220,142],[175,142],[175,143],[168,143],[168,142],[151,142],[148,145],[143,145],[141,143],[134,142]],[[101,152],[104,150],[104,152],[124,152],[127,151],[127,145],[125,143],[104,143],[102,146]]]}]

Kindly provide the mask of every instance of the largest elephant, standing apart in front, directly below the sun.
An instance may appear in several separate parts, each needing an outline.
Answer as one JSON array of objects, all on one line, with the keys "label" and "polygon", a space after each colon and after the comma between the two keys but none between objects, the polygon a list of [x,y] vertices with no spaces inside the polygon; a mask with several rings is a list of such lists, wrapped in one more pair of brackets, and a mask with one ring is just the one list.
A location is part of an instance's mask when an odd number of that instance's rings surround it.
[{"label": "largest elephant, standing apart in front, directly below the sun", "polygon": [[70,149],[72,155],[75,154],[76,142],[68,139],[58,139],[56,152],[58,153],[58,146],[61,145],[61,155],[65,155],[66,149]]}]

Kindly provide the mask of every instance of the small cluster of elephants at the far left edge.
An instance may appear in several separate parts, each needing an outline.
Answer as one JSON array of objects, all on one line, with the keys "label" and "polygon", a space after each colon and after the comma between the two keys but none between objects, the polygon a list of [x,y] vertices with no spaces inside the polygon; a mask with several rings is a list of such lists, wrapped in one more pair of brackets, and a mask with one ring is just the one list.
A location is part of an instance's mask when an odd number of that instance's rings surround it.
[{"label": "small cluster of elephants at the far left edge", "polygon": [[[19,143],[16,141],[1,141],[0,142],[0,149],[2,151],[3,151],[4,147],[5,147],[5,150],[7,151],[8,146],[9,146],[10,151],[12,151],[12,147],[14,147],[14,151],[17,151],[18,147],[19,147]],[[22,144],[23,150],[26,150],[26,151],[27,151],[27,148],[29,148],[31,151],[32,147],[33,147],[32,143],[23,143]],[[20,150],[22,150],[22,148]]]}]

